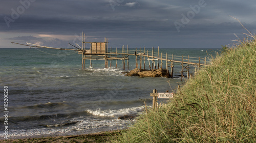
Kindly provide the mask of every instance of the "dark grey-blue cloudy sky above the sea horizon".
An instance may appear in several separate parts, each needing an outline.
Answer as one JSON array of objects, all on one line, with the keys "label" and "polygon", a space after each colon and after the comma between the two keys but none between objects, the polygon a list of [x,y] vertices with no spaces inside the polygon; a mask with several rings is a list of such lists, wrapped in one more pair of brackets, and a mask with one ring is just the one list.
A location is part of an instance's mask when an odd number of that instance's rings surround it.
[{"label": "dark grey-blue cloudy sky above the sea horizon", "polygon": [[[256,33],[255,0],[2,0],[0,48],[221,48]],[[237,18],[242,25],[239,23]],[[244,34],[245,33],[245,34]]]}]

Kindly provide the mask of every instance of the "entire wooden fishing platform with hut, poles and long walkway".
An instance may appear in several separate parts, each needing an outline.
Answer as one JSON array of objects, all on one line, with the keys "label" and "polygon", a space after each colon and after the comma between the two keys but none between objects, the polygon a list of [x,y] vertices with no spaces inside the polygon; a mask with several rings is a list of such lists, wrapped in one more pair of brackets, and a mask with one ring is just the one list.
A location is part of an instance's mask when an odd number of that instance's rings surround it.
[{"label": "entire wooden fishing platform with hut, poles and long walkway", "polygon": [[[14,44],[19,44],[12,42]],[[86,43],[90,43],[90,49],[86,49]],[[76,49],[68,49],[68,48],[54,48],[54,47],[47,47],[47,46],[40,46],[35,45],[31,43],[27,44],[19,44],[29,47],[35,47],[35,48],[50,48],[50,49],[58,49],[58,50],[73,50],[78,51],[79,54],[82,54],[82,69],[85,69],[86,60],[90,60],[90,66],[92,67],[92,60],[104,60],[105,61],[105,68],[112,67],[113,61],[115,61],[115,67],[117,68],[118,60],[122,61],[122,69],[123,70],[129,70],[129,56],[135,56],[135,66],[138,69],[144,69],[146,66],[151,69],[159,69],[159,68],[165,68],[168,71],[170,70],[170,75],[173,78],[174,77],[174,66],[177,65],[176,63],[181,64],[181,80],[184,77],[189,78],[191,74],[189,74],[189,68],[195,67],[195,70],[200,69],[201,66],[206,66],[209,62],[208,58],[194,58],[187,56],[177,56],[174,54],[168,55],[167,53],[160,53],[159,47],[157,51],[155,51],[154,47],[152,48],[152,51],[145,50],[145,47],[143,49],[141,48],[135,48],[135,49],[129,49],[129,46],[127,45],[126,49],[123,45],[121,48],[110,49],[108,48],[108,39],[105,38],[104,42],[85,42],[85,36],[83,34],[82,37],[82,46],[74,46],[70,44],[71,46],[75,47]],[[110,50],[110,51],[108,51]],[[146,65],[146,61],[148,61],[148,64]],[[126,62],[126,63],[125,63]],[[127,66],[126,66],[127,65]],[[190,66],[192,65],[192,66]],[[185,76],[184,72],[187,73]]]}]

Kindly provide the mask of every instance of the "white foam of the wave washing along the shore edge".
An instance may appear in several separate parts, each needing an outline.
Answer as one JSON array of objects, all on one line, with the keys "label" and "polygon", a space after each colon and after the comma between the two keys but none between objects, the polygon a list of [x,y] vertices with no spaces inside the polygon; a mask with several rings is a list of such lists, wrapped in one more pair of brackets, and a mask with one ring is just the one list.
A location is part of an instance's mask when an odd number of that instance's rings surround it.
[{"label": "white foam of the wave washing along the shore edge", "polygon": [[[72,135],[72,134],[84,134],[106,130],[122,129],[130,125],[130,120],[98,120],[98,119],[74,119],[72,122],[77,122],[73,126],[67,127],[48,127],[40,129],[22,129],[11,130],[8,133],[8,138],[22,138],[38,135]],[[0,137],[4,137],[4,132],[0,131]]]}]

